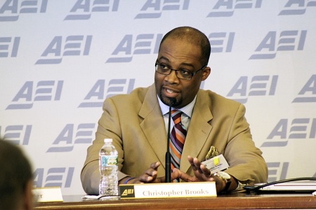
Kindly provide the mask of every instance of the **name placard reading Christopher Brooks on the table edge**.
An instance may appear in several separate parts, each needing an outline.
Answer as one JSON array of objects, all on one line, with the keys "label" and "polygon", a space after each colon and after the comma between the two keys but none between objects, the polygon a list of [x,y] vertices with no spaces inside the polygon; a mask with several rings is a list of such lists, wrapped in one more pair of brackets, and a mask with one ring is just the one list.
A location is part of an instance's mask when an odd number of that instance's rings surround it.
[{"label": "name placard reading Christopher Brooks on the table edge", "polygon": [[194,183],[146,183],[119,186],[121,199],[168,197],[216,197],[214,181]]}]

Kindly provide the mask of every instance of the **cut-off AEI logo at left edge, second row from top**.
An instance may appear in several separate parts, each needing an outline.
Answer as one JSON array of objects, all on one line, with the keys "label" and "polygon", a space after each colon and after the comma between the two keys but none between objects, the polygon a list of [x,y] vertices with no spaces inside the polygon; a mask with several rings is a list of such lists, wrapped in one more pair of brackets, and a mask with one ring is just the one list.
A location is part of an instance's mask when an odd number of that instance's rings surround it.
[{"label": "cut-off AEI logo at left edge, second row from top", "polygon": [[20,39],[20,37],[0,37],[0,57],[16,57]]}]

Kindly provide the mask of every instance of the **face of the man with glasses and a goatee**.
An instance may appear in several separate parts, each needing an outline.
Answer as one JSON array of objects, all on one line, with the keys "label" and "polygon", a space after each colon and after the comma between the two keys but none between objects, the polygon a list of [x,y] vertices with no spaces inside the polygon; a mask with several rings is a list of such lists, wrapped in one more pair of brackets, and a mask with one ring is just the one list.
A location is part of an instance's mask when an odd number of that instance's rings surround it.
[{"label": "face of the man with glasses and a goatee", "polygon": [[[157,63],[164,64],[171,69],[186,69],[192,73],[201,69],[206,64],[201,64],[201,49],[198,45],[192,45],[185,40],[166,38],[162,43]],[[175,108],[181,108],[190,104],[195,98],[202,80],[205,80],[211,69],[206,67],[197,72],[191,80],[180,79],[176,76],[176,71],[171,71],[169,75],[154,73],[154,85],[158,97],[166,105],[170,105],[170,99],[176,99],[173,104]]]}]

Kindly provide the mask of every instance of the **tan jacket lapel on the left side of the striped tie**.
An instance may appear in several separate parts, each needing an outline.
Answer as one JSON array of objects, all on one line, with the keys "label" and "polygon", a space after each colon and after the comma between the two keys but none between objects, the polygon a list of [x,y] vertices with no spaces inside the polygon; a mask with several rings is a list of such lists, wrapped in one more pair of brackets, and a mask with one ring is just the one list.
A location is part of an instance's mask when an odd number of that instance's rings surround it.
[{"label": "tan jacket lapel on the left side of the striped tie", "polygon": [[[166,155],[166,128],[164,125],[164,118],[162,117],[162,111],[160,109],[156,90],[154,85],[151,85],[143,105],[140,108],[138,115],[144,120],[140,123],[140,127],[143,130],[147,141],[157,158],[165,167],[165,155]],[[145,157],[144,157],[145,158]]]}]

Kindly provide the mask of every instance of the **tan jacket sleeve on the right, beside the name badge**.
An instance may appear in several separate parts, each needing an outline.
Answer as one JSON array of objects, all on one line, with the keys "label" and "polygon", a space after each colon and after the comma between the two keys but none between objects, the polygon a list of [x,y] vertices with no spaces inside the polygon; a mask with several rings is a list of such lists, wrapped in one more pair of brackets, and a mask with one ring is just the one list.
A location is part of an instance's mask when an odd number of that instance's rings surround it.
[{"label": "tan jacket sleeve on the right, beside the name badge", "polygon": [[268,167],[261,150],[252,140],[245,112],[244,105],[240,104],[229,128],[228,144],[223,155],[230,168],[225,172],[242,183],[263,183],[268,179]]}]

